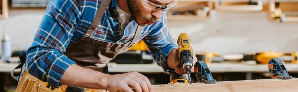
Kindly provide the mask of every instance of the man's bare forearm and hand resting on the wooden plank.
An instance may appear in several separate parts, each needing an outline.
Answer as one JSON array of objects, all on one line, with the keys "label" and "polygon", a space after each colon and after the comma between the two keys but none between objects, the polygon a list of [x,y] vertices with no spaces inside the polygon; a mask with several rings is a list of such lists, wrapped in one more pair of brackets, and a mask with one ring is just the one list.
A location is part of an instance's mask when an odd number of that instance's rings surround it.
[{"label": "man's bare forearm and hand resting on the wooden plank", "polygon": [[65,71],[60,84],[89,89],[104,89],[109,92],[117,92],[119,90],[133,92],[130,87],[137,92],[152,92],[149,79],[140,73],[129,72],[108,75],[75,64]]}]

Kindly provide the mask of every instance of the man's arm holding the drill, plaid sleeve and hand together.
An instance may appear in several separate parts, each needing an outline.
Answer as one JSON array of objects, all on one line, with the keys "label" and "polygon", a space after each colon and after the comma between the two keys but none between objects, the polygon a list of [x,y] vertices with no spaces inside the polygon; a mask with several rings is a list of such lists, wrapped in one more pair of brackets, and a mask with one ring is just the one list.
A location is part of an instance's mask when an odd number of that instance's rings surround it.
[{"label": "man's arm holding the drill, plaid sleeve and hand together", "polygon": [[[149,53],[153,56],[154,60],[164,71],[168,69],[175,69],[178,74],[185,74],[185,70],[177,67],[180,64],[178,56],[178,45],[172,40],[172,37],[166,27],[166,13],[163,12],[161,21],[156,24],[147,37],[143,40],[149,48]],[[193,62],[197,61],[197,57],[193,56]]]}]

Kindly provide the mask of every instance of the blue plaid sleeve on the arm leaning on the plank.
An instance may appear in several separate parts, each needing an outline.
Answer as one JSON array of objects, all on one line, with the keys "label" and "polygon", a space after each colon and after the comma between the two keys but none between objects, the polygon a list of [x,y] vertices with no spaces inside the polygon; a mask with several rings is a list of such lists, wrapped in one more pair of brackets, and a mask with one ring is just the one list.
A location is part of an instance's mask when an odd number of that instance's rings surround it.
[{"label": "blue plaid sleeve on the arm leaning on the plank", "polygon": [[50,0],[41,24],[27,50],[26,70],[49,86],[59,88],[66,69],[75,64],[63,54],[80,15],[79,0]]}]

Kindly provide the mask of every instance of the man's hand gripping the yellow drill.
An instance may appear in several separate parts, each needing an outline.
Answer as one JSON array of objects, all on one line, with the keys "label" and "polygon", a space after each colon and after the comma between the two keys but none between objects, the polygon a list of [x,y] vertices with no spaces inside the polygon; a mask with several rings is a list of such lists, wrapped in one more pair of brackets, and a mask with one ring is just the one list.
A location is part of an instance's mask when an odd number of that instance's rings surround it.
[{"label": "man's hand gripping the yellow drill", "polygon": [[[198,61],[198,58],[195,55],[193,55],[193,67],[191,68],[191,70],[194,69],[195,63],[197,61]],[[168,58],[167,58],[167,64],[170,68],[172,68],[172,69],[175,68],[175,71],[177,74],[179,74],[179,75],[186,74],[186,71],[185,71],[185,69],[183,69],[182,66],[178,67],[178,66],[180,66],[180,58],[178,56],[177,48],[171,50],[171,52],[169,53]]]}]

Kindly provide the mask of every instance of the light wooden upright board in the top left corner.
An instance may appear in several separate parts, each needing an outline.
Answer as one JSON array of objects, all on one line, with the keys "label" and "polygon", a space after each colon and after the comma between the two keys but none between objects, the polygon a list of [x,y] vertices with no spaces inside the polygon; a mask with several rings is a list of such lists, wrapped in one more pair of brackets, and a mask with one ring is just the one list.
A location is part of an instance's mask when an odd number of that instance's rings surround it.
[{"label": "light wooden upright board in the top left corner", "polygon": [[7,0],[0,0],[0,19],[8,18],[8,4]]}]

